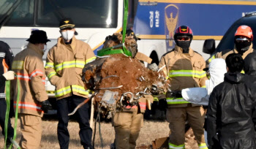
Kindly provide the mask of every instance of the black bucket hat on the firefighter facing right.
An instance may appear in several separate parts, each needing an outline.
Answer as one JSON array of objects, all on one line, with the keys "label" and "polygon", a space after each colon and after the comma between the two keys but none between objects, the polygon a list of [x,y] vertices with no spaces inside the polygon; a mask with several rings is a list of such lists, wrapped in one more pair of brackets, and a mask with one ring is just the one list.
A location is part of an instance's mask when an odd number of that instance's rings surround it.
[{"label": "black bucket hat on the firefighter facing right", "polygon": [[26,39],[26,41],[31,42],[32,44],[50,42],[46,35],[46,32],[42,30],[31,31],[31,35],[29,39]]}]

